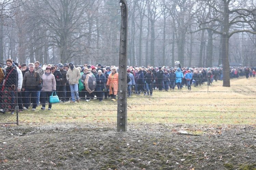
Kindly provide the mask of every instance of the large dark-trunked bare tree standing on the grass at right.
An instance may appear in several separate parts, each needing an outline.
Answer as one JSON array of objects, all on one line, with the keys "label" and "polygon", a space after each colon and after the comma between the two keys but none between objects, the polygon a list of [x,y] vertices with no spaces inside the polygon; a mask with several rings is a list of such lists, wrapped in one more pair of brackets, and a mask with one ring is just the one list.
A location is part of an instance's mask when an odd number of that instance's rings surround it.
[{"label": "large dark-trunked bare tree standing on the grass at right", "polygon": [[[253,24],[255,22],[255,8],[246,8],[247,0],[240,3],[234,3],[231,0],[213,0],[213,1],[200,1],[209,6],[215,11],[215,17],[209,17],[208,21],[202,22],[205,28],[201,30],[211,30],[215,34],[221,35],[222,39],[222,64],[223,64],[223,86],[230,87],[230,75],[229,75],[229,38],[236,33],[252,33],[256,34]],[[214,23],[218,23],[222,29],[213,29],[208,27]]]}]

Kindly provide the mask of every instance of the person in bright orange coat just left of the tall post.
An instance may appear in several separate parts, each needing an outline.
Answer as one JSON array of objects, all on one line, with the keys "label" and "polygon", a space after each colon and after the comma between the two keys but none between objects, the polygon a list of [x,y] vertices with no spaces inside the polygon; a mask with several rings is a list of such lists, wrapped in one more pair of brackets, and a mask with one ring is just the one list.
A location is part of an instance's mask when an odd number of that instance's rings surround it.
[{"label": "person in bright orange coat just left of the tall post", "polygon": [[106,85],[109,86],[109,94],[112,98],[111,100],[116,101],[118,90],[118,72],[116,72],[116,68],[111,69],[111,73],[109,74],[109,79]]}]

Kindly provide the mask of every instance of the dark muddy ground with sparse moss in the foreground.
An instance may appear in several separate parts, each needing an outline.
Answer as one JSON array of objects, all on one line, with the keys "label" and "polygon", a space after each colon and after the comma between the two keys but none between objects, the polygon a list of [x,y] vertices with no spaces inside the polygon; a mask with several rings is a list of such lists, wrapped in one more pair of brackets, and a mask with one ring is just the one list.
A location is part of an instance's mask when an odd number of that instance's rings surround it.
[{"label": "dark muddy ground with sparse moss in the foreground", "polygon": [[256,169],[256,126],[114,126],[2,125],[0,169]]}]

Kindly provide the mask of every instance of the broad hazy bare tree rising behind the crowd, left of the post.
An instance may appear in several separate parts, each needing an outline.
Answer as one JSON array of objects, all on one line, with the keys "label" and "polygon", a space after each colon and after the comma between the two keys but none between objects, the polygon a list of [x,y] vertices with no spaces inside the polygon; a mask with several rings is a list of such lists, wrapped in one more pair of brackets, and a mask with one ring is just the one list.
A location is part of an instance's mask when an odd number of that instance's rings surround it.
[{"label": "broad hazy bare tree rising behind the crowd, left of the post", "polygon": [[38,11],[34,14],[38,18],[37,27],[43,30],[38,37],[48,40],[49,47],[57,47],[60,62],[65,63],[81,54],[81,39],[92,32],[88,31],[86,13],[92,4],[92,0],[86,3],[83,0],[42,0],[29,5],[30,9]]}]

